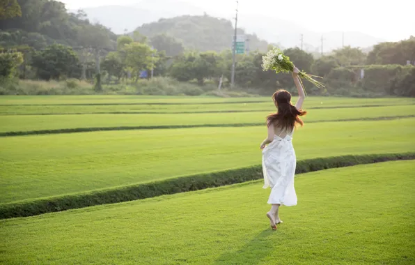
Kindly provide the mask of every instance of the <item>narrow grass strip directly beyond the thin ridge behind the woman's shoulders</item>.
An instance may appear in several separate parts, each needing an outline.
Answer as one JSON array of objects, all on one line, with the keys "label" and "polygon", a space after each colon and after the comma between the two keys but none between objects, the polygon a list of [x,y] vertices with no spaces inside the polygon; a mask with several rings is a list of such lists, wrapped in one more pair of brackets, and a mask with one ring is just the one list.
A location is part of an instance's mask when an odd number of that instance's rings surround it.
[{"label": "narrow grass strip directly beyond the thin ridge behind the woman's shoulders", "polygon": [[[39,115],[39,116],[0,116],[0,132],[30,132],[75,128],[113,128],[128,126],[203,126],[265,124],[269,112],[240,113],[197,113],[197,114],[85,114],[85,115]],[[347,119],[393,118],[415,114],[415,105],[389,107],[356,107],[345,109],[313,109],[304,121],[341,121]],[[53,131],[54,130],[54,131]],[[45,133],[44,132],[44,133]]]}]

